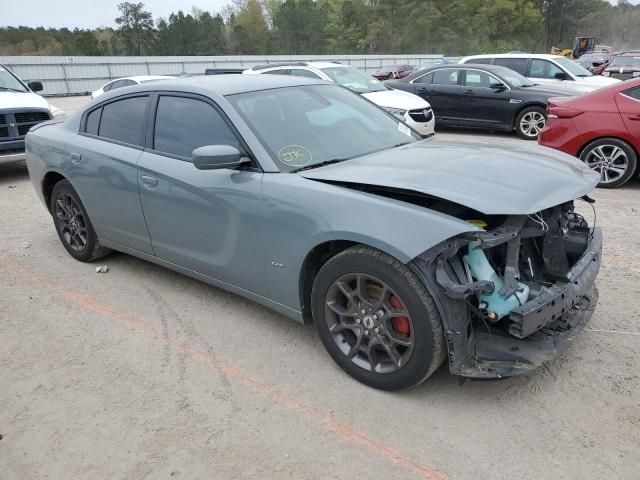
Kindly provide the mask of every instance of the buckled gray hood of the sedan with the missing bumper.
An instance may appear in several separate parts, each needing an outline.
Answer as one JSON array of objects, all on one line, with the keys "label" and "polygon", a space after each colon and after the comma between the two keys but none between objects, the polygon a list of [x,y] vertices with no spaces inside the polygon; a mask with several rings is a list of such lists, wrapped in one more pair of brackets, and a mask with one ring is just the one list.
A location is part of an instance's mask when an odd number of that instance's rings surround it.
[{"label": "buckled gray hood of the sedan with the missing bumper", "polygon": [[600,180],[576,158],[536,144],[437,137],[299,175],[411,190],[487,215],[539,212],[588,194]]}]

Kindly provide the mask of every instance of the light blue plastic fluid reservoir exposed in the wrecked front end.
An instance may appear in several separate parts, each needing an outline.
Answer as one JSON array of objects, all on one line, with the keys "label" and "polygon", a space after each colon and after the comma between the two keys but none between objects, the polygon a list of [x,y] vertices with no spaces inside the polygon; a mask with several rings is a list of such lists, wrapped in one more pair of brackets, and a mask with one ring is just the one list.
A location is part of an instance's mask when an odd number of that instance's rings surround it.
[{"label": "light blue plastic fluid reservoir exposed in the wrecked front end", "polygon": [[508,315],[512,310],[524,304],[529,298],[529,287],[520,282],[518,282],[520,288],[514,294],[509,297],[500,295],[499,292],[504,286],[504,280],[498,276],[489,263],[484,250],[480,248],[479,241],[469,244],[469,250],[464,259],[469,266],[471,276],[475,280],[489,280],[495,285],[493,293],[490,295],[480,295],[480,302],[487,304],[485,310],[496,314],[493,320],[498,320]]}]

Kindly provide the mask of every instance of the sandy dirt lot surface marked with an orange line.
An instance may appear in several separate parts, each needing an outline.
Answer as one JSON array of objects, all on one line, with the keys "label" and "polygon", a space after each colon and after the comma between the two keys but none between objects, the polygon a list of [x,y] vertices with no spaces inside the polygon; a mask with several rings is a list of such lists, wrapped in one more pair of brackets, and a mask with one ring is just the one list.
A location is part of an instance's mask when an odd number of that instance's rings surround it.
[{"label": "sandy dirt lot surface marked with an orange line", "polygon": [[0,165],[0,478],[637,479],[640,183],[592,196],[600,302],[563,355],[385,393],[312,326],[127,255],[73,260],[26,167]]}]

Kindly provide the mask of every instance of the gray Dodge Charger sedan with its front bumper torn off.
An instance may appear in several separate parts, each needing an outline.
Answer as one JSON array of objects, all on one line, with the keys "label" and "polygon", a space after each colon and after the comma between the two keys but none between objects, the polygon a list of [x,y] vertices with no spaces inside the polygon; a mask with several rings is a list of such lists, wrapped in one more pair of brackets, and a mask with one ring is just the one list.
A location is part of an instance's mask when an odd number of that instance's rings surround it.
[{"label": "gray Dodge Charger sedan with its front bumper torn off", "polygon": [[[422,140],[335,84],[229,75],[122,88],[26,138],[77,260],[117,250],[313,322],[357,380],[531,371],[597,303],[598,175],[538,147]],[[590,208],[588,211],[591,211]]]}]

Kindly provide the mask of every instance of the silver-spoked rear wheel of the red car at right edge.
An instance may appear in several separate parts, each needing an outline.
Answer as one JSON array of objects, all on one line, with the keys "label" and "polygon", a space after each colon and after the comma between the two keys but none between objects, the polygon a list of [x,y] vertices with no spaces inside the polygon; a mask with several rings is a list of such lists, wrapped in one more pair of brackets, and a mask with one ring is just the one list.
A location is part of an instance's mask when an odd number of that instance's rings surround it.
[{"label": "silver-spoked rear wheel of the red car at right edge", "polygon": [[601,188],[617,188],[636,173],[638,156],[631,146],[617,138],[602,138],[591,142],[580,153],[590,169],[600,174]]}]

